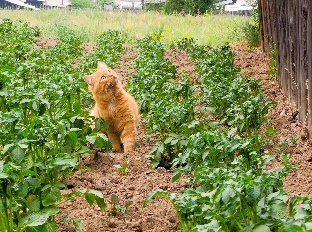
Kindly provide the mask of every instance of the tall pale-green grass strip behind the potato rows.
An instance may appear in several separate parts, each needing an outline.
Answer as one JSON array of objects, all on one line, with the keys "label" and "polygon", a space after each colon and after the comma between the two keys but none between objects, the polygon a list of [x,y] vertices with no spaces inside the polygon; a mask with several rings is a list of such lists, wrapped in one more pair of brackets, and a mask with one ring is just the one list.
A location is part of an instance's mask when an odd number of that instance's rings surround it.
[{"label": "tall pale-green grass strip behind the potato rows", "polygon": [[184,34],[196,39],[199,44],[209,46],[238,41],[241,39],[241,28],[251,21],[250,17],[237,15],[164,16],[154,12],[89,9],[4,9],[0,10],[0,17],[26,19],[32,25],[40,27],[42,35],[47,37],[60,37],[68,31],[74,31],[85,42],[95,41],[97,33],[108,28],[120,30],[123,39],[128,43],[134,43],[135,39],[162,30],[166,46],[170,46],[172,41],[177,42]]}]

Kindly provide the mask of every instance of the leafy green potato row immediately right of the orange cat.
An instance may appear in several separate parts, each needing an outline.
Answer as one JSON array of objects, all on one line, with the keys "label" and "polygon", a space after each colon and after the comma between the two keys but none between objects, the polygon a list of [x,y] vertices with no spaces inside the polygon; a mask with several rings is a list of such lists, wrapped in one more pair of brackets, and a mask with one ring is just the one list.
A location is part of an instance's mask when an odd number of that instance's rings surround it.
[{"label": "leafy green potato row immediately right of the orange cat", "polygon": [[198,103],[194,90],[198,85],[191,84],[185,73],[176,79],[176,69],[163,58],[164,45],[157,35],[137,42],[139,56],[133,62],[136,72],[127,83],[127,91],[135,97],[143,113],[147,131],[159,139],[149,151],[153,165],[162,162],[163,153],[172,162],[194,130],[202,132],[219,124],[205,117],[206,109],[194,111]]}]

